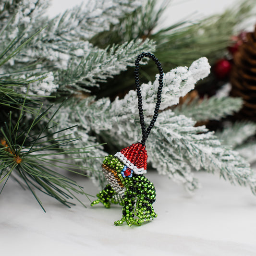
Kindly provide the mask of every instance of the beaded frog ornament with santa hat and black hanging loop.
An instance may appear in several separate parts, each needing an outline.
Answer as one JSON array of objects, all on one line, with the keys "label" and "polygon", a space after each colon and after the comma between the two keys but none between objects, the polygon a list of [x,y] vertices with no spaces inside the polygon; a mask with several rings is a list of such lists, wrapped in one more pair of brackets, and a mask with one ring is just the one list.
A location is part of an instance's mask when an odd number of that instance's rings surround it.
[{"label": "beaded frog ornament with santa hat and black hanging loop", "polygon": [[[155,61],[159,70],[159,86],[157,103],[153,119],[146,129],[142,108],[142,96],[139,84],[139,61],[149,57]],[[132,144],[117,152],[114,156],[105,157],[102,164],[102,171],[108,181],[108,185],[98,193],[98,199],[91,203],[94,206],[101,202],[104,207],[110,208],[110,203],[122,206],[122,219],[115,221],[115,225],[126,222],[128,226],[141,225],[157,217],[152,204],[156,200],[156,190],[145,176],[147,165],[146,139],[158,117],[158,110],[161,103],[161,92],[163,86],[163,70],[161,63],[154,54],[139,54],[135,60],[135,86],[138,97],[138,110],[142,131],[142,141]]]}]

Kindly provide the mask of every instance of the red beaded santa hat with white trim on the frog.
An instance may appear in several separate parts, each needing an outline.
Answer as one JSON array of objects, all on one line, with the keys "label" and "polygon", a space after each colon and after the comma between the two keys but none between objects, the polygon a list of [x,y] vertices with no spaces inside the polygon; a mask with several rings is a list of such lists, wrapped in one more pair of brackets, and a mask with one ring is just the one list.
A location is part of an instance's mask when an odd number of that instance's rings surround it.
[{"label": "red beaded santa hat with white trim on the frog", "polygon": [[140,142],[125,147],[115,154],[129,169],[136,174],[146,173],[146,146]]}]

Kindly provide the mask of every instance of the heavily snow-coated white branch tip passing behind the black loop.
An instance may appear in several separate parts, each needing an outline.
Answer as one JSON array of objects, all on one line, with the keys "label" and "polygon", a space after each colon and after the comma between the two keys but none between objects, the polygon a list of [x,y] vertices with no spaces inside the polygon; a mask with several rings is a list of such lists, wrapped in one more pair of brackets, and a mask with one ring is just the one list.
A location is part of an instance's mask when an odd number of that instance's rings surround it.
[{"label": "heavily snow-coated white branch tip passing behind the black loop", "polygon": [[[190,90],[195,88],[195,83],[205,78],[210,73],[210,65],[207,58],[202,57],[194,61],[191,66],[188,67],[178,67],[164,74],[163,78],[163,88],[160,110],[164,110],[172,105],[178,104],[180,97],[185,96]],[[143,106],[145,110],[145,115],[150,116],[154,112],[156,104],[155,92],[158,88],[158,77],[156,75],[156,80],[151,83],[142,84],[142,98],[144,100]],[[137,96],[134,90],[129,91],[129,93],[123,98],[116,98],[111,104],[110,111],[116,111],[116,109],[122,108],[125,113],[134,113],[137,111],[132,104],[128,102],[136,102]],[[117,115],[120,115],[117,113]]]}]

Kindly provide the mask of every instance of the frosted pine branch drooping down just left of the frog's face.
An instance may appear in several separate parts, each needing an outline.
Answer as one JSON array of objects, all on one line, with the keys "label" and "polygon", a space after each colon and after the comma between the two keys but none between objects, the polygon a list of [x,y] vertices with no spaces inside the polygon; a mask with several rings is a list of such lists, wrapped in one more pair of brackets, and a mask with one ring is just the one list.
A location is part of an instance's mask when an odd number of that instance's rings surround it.
[{"label": "frosted pine branch drooping down just left of the frog's face", "polygon": [[[92,99],[92,97],[90,97]],[[53,121],[56,123],[55,126],[51,128],[52,131],[56,132],[56,135],[53,135],[55,140],[58,141],[58,131],[61,131],[60,134],[69,138],[70,140],[79,137],[79,140],[70,143],[72,148],[83,148],[84,145],[87,145],[90,149],[90,154],[87,155],[83,152],[77,153],[77,158],[73,158],[73,161],[79,165],[83,166],[84,173],[89,176],[92,181],[98,185],[98,187],[104,188],[107,184],[106,179],[101,171],[101,164],[106,155],[108,155],[102,145],[97,145],[96,137],[90,135],[91,128],[89,126],[88,117],[94,119],[97,122],[97,116],[91,116],[90,106],[91,101],[79,100],[79,98],[70,98],[68,99],[64,106],[61,107],[61,111],[58,111]],[[80,105],[81,104],[81,105]],[[79,107],[78,107],[79,105]],[[83,105],[83,106],[82,106]],[[81,115],[80,107],[87,113],[86,117]],[[55,111],[58,108],[58,104],[53,106],[51,111]],[[69,130],[65,127],[72,126]],[[105,143],[105,141],[104,141]],[[61,148],[65,149],[65,146],[60,145]]]}]

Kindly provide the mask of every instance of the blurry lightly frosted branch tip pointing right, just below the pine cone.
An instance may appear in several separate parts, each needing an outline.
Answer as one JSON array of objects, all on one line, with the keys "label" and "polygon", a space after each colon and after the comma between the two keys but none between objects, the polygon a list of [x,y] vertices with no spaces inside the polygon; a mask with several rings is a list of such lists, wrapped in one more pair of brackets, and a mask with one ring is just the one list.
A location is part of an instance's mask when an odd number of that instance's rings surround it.
[{"label": "blurry lightly frosted branch tip pointing right, just below the pine cone", "polygon": [[176,115],[183,114],[195,121],[220,120],[228,115],[234,114],[241,109],[243,100],[241,98],[212,96],[199,99],[198,97],[189,102],[189,98],[173,111]]}]

